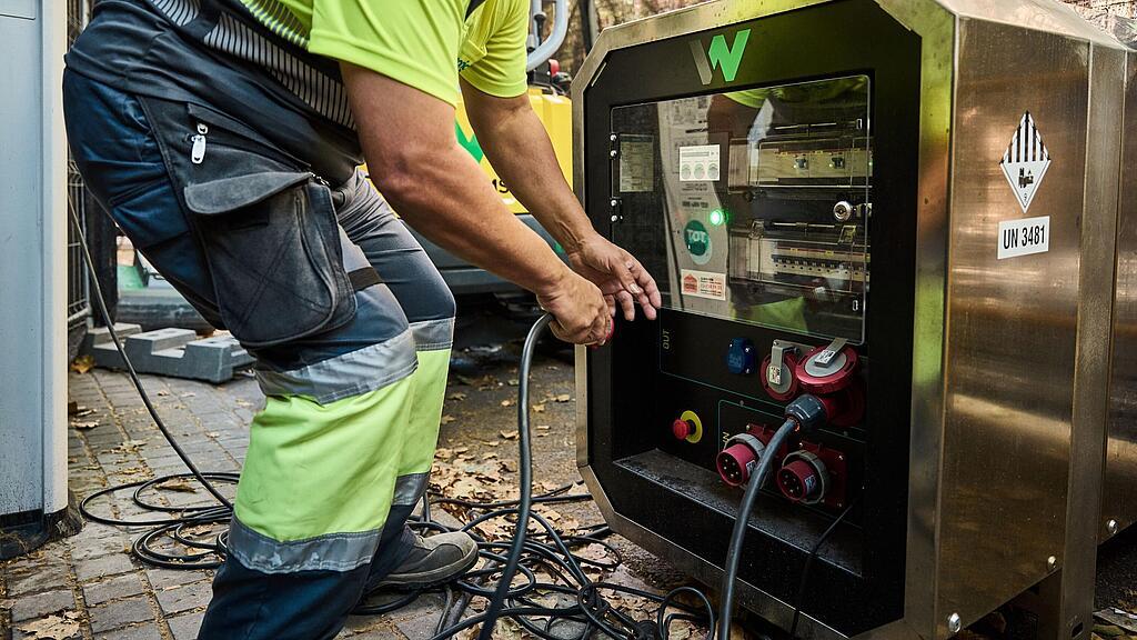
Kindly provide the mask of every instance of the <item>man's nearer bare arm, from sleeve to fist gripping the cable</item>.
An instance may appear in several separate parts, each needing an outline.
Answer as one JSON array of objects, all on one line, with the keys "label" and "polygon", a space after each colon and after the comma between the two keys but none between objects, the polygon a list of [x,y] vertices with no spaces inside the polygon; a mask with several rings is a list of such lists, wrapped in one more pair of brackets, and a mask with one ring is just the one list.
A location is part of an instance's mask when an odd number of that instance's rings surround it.
[{"label": "man's nearer bare arm, from sleeve to fist gripping the cable", "polygon": [[599,289],[518,221],[454,136],[454,107],[379,73],[342,64],[372,180],[399,215],[462,259],[533,292],[575,343],[601,342]]}]

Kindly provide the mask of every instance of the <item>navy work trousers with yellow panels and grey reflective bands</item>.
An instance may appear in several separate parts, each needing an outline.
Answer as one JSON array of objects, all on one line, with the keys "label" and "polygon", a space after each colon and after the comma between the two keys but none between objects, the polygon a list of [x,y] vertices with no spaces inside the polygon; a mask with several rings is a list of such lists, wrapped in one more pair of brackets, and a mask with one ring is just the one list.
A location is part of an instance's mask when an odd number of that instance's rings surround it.
[{"label": "navy work trousers with yellow panels and grey reflective bands", "polygon": [[329,186],[241,114],[72,72],[64,105],[88,187],[256,358],[266,395],[199,638],[334,637],[409,551],[446,388],[449,289],[362,174]]}]

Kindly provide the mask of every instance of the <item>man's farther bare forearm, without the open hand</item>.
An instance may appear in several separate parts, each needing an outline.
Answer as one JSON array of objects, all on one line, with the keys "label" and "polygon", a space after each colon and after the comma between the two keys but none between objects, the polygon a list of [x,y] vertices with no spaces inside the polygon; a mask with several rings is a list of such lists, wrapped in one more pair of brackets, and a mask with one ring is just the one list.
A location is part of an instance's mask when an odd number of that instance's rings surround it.
[{"label": "man's farther bare forearm, without the open hand", "polygon": [[[471,90],[465,93],[471,95]],[[478,105],[467,107],[467,113],[493,170],[517,200],[572,253],[596,231],[561,173],[548,133],[530,108],[529,97],[482,95],[475,99]]]}]

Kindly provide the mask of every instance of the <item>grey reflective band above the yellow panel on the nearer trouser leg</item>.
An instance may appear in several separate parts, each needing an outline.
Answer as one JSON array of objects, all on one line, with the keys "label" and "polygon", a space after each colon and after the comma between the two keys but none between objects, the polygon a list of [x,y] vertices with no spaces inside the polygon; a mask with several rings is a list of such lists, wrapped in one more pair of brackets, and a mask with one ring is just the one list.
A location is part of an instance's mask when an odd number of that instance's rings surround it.
[{"label": "grey reflective band above the yellow panel on the nearer trouser leg", "polygon": [[360,395],[401,380],[418,360],[410,329],[384,340],[290,371],[257,369],[265,395],[304,395],[321,404]]}]

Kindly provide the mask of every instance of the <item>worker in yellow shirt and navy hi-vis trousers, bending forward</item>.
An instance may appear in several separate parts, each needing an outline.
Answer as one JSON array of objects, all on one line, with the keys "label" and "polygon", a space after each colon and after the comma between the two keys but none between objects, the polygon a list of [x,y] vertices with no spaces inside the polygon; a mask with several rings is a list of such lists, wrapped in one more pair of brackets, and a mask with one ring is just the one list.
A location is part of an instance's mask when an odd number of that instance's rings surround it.
[{"label": "worker in yellow shirt and navy hi-vis trousers, bending forward", "polygon": [[[466,533],[406,525],[437,444],[455,302],[392,210],[532,292],[562,339],[603,342],[617,309],[655,317],[654,280],[592,229],[530,108],[529,6],[101,0],[68,52],[84,181],[256,358],[266,395],[202,640],[332,638],[366,593],[476,561]],[[568,265],[458,145],[459,90]]]}]

